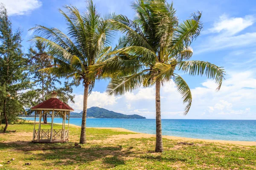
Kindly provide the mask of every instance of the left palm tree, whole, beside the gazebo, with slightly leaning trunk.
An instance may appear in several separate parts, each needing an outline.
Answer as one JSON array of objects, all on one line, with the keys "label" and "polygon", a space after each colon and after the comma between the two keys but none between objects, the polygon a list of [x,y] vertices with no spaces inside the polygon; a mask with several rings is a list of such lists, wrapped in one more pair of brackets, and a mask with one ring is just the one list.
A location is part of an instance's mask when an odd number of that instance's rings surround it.
[{"label": "left palm tree, whole, beside the gazebo, with slightly leaning trunk", "polygon": [[73,77],[84,86],[83,115],[81,123],[80,143],[86,143],[87,98],[92,91],[95,77],[88,77],[90,66],[105,60],[110,46],[113,31],[110,29],[108,17],[102,18],[96,11],[92,0],[87,2],[87,11],[83,14],[74,6],[65,6],[67,13],[59,9],[67,23],[67,34],[57,28],[35,26],[32,30],[37,34],[32,40],[44,42],[52,51],[55,65],[41,71],[55,74],[58,77]]}]

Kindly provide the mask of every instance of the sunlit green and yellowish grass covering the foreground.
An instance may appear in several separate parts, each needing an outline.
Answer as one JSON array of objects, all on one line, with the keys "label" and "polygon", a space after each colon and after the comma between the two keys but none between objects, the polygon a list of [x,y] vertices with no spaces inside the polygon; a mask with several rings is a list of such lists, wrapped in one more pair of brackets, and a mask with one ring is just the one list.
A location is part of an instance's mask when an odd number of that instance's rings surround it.
[{"label": "sunlit green and yellowish grass covering the foreground", "polygon": [[[49,128],[49,125],[44,126]],[[32,129],[30,123],[10,125],[9,130],[17,130],[16,133],[0,134],[3,169],[256,169],[256,147],[200,141],[184,145],[177,144],[177,140],[163,139],[165,151],[154,153],[155,138],[116,139],[113,136],[132,133],[87,128],[88,143],[81,148],[67,149],[79,141],[80,128],[71,127],[70,142],[64,144],[33,144],[29,142]],[[62,149],[51,149],[56,146]],[[15,160],[7,164],[12,158]]]}]

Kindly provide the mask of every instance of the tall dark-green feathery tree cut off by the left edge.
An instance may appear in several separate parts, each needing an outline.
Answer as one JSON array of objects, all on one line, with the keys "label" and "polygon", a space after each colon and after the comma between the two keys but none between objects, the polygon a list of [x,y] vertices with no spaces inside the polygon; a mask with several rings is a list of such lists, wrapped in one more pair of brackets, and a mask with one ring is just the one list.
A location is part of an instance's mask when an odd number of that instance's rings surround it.
[{"label": "tall dark-green feathery tree cut off by the left edge", "polygon": [[[14,122],[23,109],[21,90],[29,88],[26,58],[23,57],[20,30],[12,31],[6,8],[0,7],[0,121]],[[3,119],[4,117],[4,119]]]}]

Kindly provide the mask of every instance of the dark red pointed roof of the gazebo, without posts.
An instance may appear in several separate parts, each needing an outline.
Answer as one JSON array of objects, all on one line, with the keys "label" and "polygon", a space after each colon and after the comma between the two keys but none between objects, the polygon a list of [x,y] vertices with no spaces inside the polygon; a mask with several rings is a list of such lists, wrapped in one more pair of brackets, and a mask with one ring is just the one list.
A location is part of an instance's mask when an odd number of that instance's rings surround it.
[{"label": "dark red pointed roof of the gazebo, without posts", "polygon": [[68,106],[67,104],[65,104],[64,102],[61,102],[61,100],[57,99],[57,98],[50,98],[36,106],[34,106],[33,108],[31,108],[31,110],[45,110],[45,109],[55,109],[55,110],[67,110],[67,111],[74,111],[73,108],[70,108],[70,106]]}]

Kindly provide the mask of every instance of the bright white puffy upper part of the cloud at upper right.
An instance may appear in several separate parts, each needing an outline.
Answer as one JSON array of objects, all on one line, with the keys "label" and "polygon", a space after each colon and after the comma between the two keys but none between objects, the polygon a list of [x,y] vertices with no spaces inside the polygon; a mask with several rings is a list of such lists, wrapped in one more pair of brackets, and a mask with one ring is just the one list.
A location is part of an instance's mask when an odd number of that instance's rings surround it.
[{"label": "bright white puffy upper part of the cloud at upper right", "polygon": [[247,15],[244,18],[242,17],[227,17],[223,14],[219,17],[219,20],[214,23],[213,28],[210,28],[208,31],[211,33],[219,33],[224,31],[224,34],[234,35],[248,26],[253,25],[255,18],[252,15]]}]

